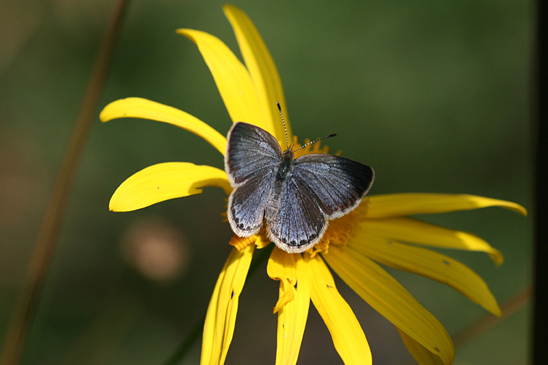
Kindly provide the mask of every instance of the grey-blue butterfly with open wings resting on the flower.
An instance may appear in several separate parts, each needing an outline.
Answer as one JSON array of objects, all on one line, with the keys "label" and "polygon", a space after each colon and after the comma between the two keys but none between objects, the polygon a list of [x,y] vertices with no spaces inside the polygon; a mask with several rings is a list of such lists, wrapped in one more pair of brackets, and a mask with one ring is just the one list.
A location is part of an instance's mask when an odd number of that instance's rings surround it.
[{"label": "grey-blue butterfly with open wings resting on the flower", "polygon": [[373,168],[360,162],[325,153],[295,158],[295,151],[288,146],[282,153],[276,138],[256,125],[232,125],[225,172],[234,188],[227,217],[236,235],[253,236],[266,221],[266,236],[277,247],[306,251],[321,240],[329,221],[356,208],[373,184]]}]

